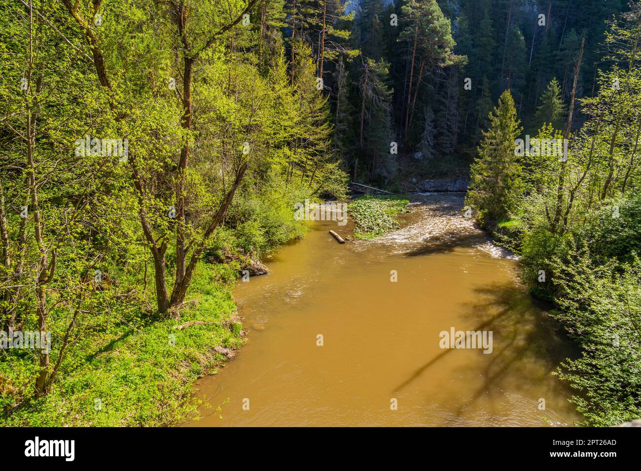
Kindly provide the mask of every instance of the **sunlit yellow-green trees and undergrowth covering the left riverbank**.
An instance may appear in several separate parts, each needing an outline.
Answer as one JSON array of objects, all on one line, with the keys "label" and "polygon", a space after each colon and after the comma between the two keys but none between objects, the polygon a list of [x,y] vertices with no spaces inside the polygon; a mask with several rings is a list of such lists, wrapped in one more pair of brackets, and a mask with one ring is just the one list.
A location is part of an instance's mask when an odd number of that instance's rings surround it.
[{"label": "sunlit yellow-green trees and undergrowth covering the left riverbank", "polygon": [[[52,350],[2,352],[0,408],[10,424],[169,424],[195,410],[213,348],[242,343],[240,262],[201,257],[259,258],[304,235],[297,202],[345,196],[328,97],[308,44],[288,69],[283,1],[249,25],[244,0],[29,4],[0,19],[0,329],[48,331]],[[347,38],[342,21],[328,37]]]}]

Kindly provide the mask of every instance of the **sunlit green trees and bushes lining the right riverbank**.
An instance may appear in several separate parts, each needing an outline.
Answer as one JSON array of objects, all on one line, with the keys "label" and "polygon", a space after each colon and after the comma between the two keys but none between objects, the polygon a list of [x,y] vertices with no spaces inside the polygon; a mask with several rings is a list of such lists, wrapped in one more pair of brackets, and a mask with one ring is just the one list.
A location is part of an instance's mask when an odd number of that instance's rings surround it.
[{"label": "sunlit green trees and bushes lining the right riverbank", "polygon": [[[577,390],[572,402],[587,426],[612,426],[641,413],[641,4],[630,6],[609,24],[605,44],[612,67],[597,73],[594,97],[579,99],[587,120],[567,136],[567,160],[558,152],[526,150],[520,168],[514,167],[522,186],[510,190],[513,199],[469,195],[480,204],[481,220],[496,213],[497,201],[510,201],[497,226],[520,255],[526,285],[554,303],[553,317],[581,347],[580,358],[567,359],[557,374]],[[567,69],[577,39],[570,31],[563,42]],[[547,40],[544,47],[549,45]],[[547,123],[538,140],[564,137],[554,124],[562,108],[553,80],[537,114]],[[488,144],[479,147],[482,158]],[[476,176],[491,174],[489,162],[472,167],[475,192],[484,183]]]}]

